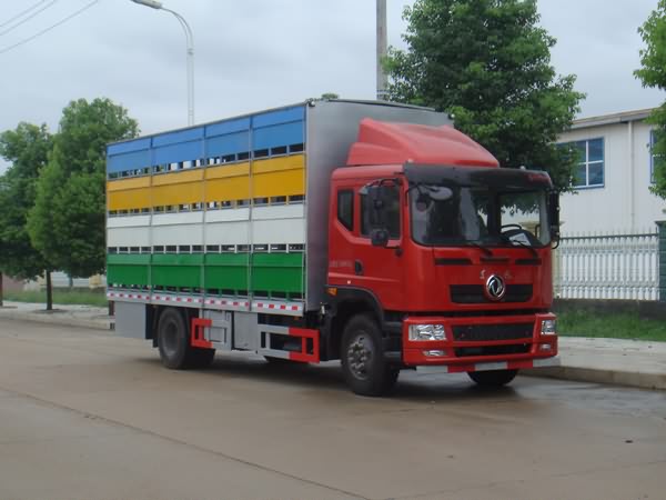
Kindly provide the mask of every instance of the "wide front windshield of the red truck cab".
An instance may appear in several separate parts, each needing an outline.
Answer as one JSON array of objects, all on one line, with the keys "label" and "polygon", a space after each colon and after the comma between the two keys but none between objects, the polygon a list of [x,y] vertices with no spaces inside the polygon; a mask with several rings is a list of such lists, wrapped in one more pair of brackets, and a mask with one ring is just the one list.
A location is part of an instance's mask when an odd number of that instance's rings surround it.
[{"label": "wide front windshield of the red truck cab", "polygon": [[[437,194],[445,190],[446,194]],[[434,193],[434,196],[433,196]],[[412,183],[412,238],[430,246],[549,244],[546,191]]]}]

